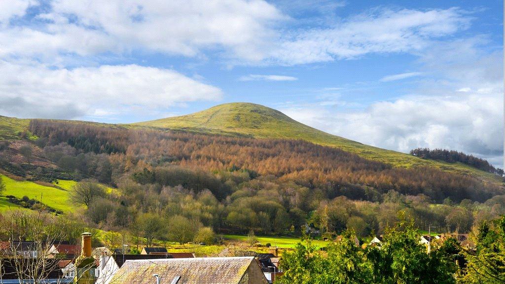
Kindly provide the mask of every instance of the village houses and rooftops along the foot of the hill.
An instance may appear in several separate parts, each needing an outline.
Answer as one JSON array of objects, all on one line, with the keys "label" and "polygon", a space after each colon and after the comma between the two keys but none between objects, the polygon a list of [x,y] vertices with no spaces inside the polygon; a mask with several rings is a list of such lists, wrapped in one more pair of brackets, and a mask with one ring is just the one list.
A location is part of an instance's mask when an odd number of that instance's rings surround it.
[{"label": "village houses and rooftops along the foot of the hill", "polygon": [[[235,251],[230,244],[218,257],[195,257],[194,253],[168,252],[164,247],[144,247],[140,254],[128,254],[124,249],[92,248],[91,233],[81,236],[80,245],[0,242],[0,283],[264,284],[283,275],[281,250],[276,246],[268,247],[268,253],[257,253],[238,248]],[[342,242],[343,238],[338,235],[333,242]],[[467,250],[475,250],[468,234],[421,235],[419,244],[429,254],[432,244],[439,245],[448,238],[458,240]],[[356,236],[349,241],[357,248],[380,250],[382,240],[381,235],[365,244],[360,244]],[[457,257],[454,261],[463,267]]]}]

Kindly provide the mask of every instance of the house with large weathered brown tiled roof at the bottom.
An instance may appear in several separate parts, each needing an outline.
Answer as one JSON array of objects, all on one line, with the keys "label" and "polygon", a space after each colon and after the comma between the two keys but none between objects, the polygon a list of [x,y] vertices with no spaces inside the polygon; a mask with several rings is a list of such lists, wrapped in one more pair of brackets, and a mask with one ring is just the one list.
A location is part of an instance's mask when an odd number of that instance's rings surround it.
[{"label": "house with large weathered brown tiled roof at the bottom", "polygon": [[128,260],[111,283],[267,284],[254,257]]}]

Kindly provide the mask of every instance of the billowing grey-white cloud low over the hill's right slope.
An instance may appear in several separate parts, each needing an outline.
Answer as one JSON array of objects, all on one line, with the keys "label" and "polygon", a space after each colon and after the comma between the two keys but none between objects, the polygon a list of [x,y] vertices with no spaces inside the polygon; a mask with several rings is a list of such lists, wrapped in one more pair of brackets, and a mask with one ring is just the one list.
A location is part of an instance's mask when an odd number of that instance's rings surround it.
[{"label": "billowing grey-white cloud low over the hill's right slope", "polygon": [[384,149],[444,148],[486,158],[502,153],[503,102],[497,94],[414,96],[375,103],[362,111],[317,107],[282,111],[302,123]]}]

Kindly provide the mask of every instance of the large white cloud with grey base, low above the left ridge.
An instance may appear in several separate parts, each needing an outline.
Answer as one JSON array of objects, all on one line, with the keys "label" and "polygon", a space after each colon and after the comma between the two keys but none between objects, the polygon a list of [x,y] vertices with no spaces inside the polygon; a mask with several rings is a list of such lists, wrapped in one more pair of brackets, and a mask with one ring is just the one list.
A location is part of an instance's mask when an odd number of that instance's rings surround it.
[{"label": "large white cloud with grey base, low above the left ridge", "polygon": [[0,69],[0,111],[17,117],[110,118],[222,96],[173,70],[138,65],[52,70],[0,62]]}]

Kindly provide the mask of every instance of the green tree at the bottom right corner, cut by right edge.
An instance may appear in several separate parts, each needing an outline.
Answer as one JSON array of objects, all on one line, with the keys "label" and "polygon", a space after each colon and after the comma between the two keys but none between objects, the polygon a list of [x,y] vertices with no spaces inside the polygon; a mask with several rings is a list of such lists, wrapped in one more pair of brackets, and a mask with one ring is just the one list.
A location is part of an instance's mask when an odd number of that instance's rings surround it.
[{"label": "green tree at the bottom right corner, cut by right edge", "polygon": [[462,283],[505,283],[505,216],[491,226],[483,222],[477,236],[477,251],[466,253],[468,260]]}]

